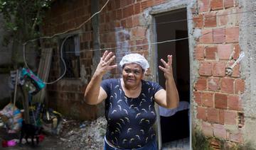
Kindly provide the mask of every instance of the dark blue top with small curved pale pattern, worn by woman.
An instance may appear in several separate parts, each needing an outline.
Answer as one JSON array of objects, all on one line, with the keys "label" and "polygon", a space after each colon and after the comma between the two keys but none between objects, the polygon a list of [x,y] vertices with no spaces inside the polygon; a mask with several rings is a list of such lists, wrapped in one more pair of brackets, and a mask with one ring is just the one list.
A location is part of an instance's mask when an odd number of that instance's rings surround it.
[{"label": "dark blue top with small curved pale pattern, worn by woman", "polygon": [[154,139],[156,121],[154,94],[162,89],[158,83],[142,80],[142,92],[137,98],[128,98],[120,79],[102,81],[107,93],[105,117],[107,141],[119,149],[137,149]]}]

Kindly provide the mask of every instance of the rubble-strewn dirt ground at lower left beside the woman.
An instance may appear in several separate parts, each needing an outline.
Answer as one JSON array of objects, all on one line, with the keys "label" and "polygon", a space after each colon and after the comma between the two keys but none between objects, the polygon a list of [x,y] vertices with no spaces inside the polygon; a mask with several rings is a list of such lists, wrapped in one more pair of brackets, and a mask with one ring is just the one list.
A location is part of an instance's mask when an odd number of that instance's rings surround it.
[{"label": "rubble-strewn dirt ground at lower left beside the woman", "polygon": [[[16,144],[0,149],[6,150],[27,150],[27,149],[42,149],[42,150],[59,150],[59,149],[103,149],[103,137],[105,134],[106,121],[104,117],[99,117],[94,121],[80,122],[78,120],[63,120],[63,127],[59,135],[44,134],[45,139],[39,142],[38,146],[26,144]],[[2,140],[19,139],[19,134],[8,134],[4,127],[0,127],[0,142]]]}]

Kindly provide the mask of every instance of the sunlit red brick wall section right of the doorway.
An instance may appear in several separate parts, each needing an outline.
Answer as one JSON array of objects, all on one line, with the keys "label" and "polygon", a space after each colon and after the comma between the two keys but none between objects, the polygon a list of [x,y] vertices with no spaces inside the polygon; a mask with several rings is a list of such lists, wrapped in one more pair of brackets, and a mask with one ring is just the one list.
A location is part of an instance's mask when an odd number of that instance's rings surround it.
[{"label": "sunlit red brick wall section right of the doorway", "polygon": [[193,86],[196,119],[206,136],[242,142],[240,94],[245,91],[245,81],[241,79],[239,64],[231,76],[225,74],[225,68],[230,67],[240,53],[239,12],[242,10],[233,0],[197,2],[194,28],[205,35],[198,39],[194,48],[199,63],[199,77]]}]

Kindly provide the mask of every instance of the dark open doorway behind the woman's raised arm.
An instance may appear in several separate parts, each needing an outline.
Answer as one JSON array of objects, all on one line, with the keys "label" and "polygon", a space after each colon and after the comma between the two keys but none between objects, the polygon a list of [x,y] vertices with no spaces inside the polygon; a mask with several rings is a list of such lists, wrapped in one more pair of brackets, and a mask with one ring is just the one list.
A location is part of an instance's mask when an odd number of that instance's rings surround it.
[{"label": "dark open doorway behind the woman's raised arm", "polygon": [[[161,13],[155,16],[157,42],[188,37],[186,9]],[[183,20],[183,21],[181,21]],[[157,45],[158,65],[163,66],[160,59],[167,59],[167,54],[173,56],[174,80],[178,88],[180,103],[176,109],[166,109],[159,106],[161,120],[162,143],[174,142],[178,139],[189,139],[189,50],[188,39],[176,42],[165,42]],[[165,88],[164,73],[158,69],[158,81]],[[189,140],[188,140],[189,141]]]}]

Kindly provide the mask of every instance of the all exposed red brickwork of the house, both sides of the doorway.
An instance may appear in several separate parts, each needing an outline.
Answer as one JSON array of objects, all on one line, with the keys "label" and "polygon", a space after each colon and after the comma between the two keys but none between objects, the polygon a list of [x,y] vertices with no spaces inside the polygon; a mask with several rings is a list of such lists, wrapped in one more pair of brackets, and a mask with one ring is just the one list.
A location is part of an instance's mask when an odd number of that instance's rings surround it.
[{"label": "all exposed red brickwork of the house, both sides of the doorway", "polygon": [[[90,2],[90,0],[78,0],[72,3],[55,1],[46,16],[43,32],[46,35],[53,35],[78,27],[92,15]],[[127,43],[129,46],[147,44],[148,28],[144,27],[139,19],[146,8],[165,2],[165,0],[110,1],[99,14],[100,47],[126,47]],[[103,4],[105,1],[100,1],[99,7],[101,8]],[[239,64],[234,68],[231,76],[225,74],[225,68],[230,67],[242,51],[238,43],[240,11],[238,1],[233,0],[198,0],[195,8],[192,8],[193,28],[201,30],[201,36],[196,39],[196,45],[193,47],[193,61],[198,62],[198,72],[192,73],[198,74],[198,79],[192,83],[196,117],[203,121],[201,127],[206,136],[227,139],[231,142],[242,142],[242,132],[228,131],[225,125],[233,128],[242,127],[238,113],[242,112],[240,94],[245,92],[245,80],[240,79]],[[91,22],[85,23],[81,31],[83,33],[80,35],[80,64],[85,67],[86,79],[90,81],[92,57],[95,54],[87,51],[93,49]],[[57,50],[53,54],[54,59],[50,69],[51,81],[61,75]],[[117,50],[112,51],[117,52]],[[150,52],[148,45],[131,47],[129,51],[139,52],[145,57],[148,57]],[[117,59],[121,59],[124,52],[118,54]],[[111,73],[113,76],[118,75],[117,70]],[[85,103],[78,107],[86,86],[86,83],[78,86],[68,85],[65,82],[48,86],[48,95],[55,99],[50,101],[50,105],[64,112],[71,107],[77,108],[81,112],[81,117],[95,118],[97,107]]]}]

